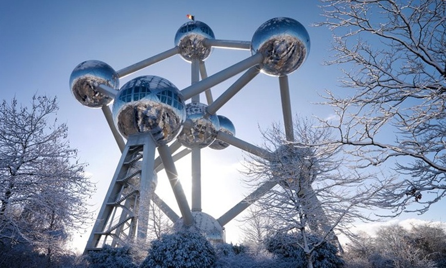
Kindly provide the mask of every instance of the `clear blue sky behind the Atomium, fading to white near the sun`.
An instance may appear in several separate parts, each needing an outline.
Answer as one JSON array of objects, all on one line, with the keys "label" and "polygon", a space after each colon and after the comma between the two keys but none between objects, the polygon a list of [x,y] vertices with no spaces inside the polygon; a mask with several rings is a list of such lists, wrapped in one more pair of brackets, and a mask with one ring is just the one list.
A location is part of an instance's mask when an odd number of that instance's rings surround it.
[{"label": "clear blue sky behind the Atomium, fading to white near the sun", "polygon": [[[306,27],[311,39],[307,61],[289,76],[293,114],[330,117],[329,107],[315,105],[326,88],[336,88],[336,66],[323,66],[330,49],[331,33],[311,27],[323,19],[316,1],[0,1],[0,99],[14,96],[25,105],[33,94],[57,96],[59,122],[69,126],[71,146],[97,182],[92,209],[102,204],[120,152],[100,109],[80,105],[69,90],[74,67],[85,60],[101,60],[120,70],[174,47],[178,28],[186,14],[211,27],[216,39],[250,41],[256,29],[273,17],[291,17]],[[249,57],[249,51],[214,49],[206,60],[208,75]],[[139,75],[158,75],[180,90],[190,84],[190,64],[174,56],[121,79],[120,85]],[[213,87],[214,99],[236,79]],[[340,90],[339,90],[340,91]],[[340,93],[340,92],[339,92]],[[204,96],[201,97],[204,102]],[[218,111],[235,125],[236,136],[262,143],[259,127],[282,122],[278,79],[258,75]],[[202,207],[215,218],[241,200],[248,189],[242,183],[239,162],[246,154],[236,148],[202,150]],[[188,163],[189,161],[189,163]],[[190,159],[177,163],[178,173],[190,199]],[[176,211],[167,179],[159,179],[157,193]],[[446,200],[431,211],[402,219],[446,220]],[[226,228],[228,242],[239,242],[237,222]],[[88,233],[76,235],[75,247],[83,250]]]}]

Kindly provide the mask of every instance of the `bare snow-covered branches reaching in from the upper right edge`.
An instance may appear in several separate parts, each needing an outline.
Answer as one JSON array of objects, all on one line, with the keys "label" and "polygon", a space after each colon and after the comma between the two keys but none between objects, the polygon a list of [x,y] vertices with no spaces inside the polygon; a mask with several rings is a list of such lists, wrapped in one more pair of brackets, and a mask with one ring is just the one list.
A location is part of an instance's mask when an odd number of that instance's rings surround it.
[{"label": "bare snow-covered branches reaching in from the upper right edge", "polygon": [[321,2],[318,25],[334,35],[327,63],[342,67],[347,88],[327,91],[336,119],[323,121],[358,167],[392,165],[381,207],[424,213],[446,195],[446,2]]}]

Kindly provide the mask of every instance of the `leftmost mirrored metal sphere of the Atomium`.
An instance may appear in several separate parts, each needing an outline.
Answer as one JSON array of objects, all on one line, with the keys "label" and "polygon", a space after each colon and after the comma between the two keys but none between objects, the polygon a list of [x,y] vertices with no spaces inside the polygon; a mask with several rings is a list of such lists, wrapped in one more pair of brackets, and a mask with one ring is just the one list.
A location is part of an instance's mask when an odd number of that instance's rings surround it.
[{"label": "leftmost mirrored metal sphere of the Atomium", "polygon": [[99,84],[119,89],[119,77],[110,65],[98,60],[87,60],[74,68],[70,76],[71,92],[81,104],[100,108],[113,99],[96,91]]}]

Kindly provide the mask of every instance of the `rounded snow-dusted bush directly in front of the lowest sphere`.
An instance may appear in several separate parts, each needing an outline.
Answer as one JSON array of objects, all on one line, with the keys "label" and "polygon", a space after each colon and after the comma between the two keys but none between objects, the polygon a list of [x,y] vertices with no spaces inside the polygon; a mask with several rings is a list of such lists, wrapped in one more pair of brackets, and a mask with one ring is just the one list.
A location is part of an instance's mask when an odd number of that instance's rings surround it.
[{"label": "rounded snow-dusted bush directly in front of the lowest sphere", "polygon": [[153,240],[140,267],[213,267],[216,260],[215,250],[204,236],[195,232],[177,232]]}]

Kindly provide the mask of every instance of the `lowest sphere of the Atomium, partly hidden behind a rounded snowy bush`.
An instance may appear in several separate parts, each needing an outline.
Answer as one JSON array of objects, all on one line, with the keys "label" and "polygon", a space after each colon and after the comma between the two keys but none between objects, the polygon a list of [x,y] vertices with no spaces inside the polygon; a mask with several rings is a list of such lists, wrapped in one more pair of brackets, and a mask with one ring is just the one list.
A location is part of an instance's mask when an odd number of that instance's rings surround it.
[{"label": "lowest sphere of the Atomium, partly hidden behind a rounded snowy bush", "polygon": [[192,226],[184,226],[183,218],[179,218],[173,225],[175,231],[184,231],[187,229],[204,235],[212,242],[221,243],[225,241],[223,228],[216,219],[200,211],[192,211],[192,216],[195,220]]}]

